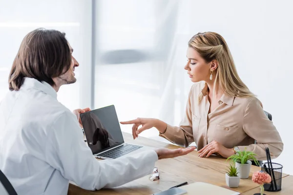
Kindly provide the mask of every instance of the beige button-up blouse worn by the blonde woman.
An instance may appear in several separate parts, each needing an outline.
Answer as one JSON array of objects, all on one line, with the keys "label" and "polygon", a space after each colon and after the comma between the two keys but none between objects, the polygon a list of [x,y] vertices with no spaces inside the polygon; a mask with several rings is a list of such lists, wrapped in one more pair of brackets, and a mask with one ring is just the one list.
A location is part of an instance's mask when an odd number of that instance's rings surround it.
[{"label": "beige button-up blouse worn by the blonde woman", "polygon": [[[200,93],[204,97],[199,102]],[[265,147],[269,147],[272,158],[281,154],[282,139],[257,98],[223,95],[218,103],[219,106],[209,113],[208,86],[205,82],[193,84],[180,126],[167,125],[166,132],[160,136],[185,147],[195,141],[197,150],[215,140],[226,148],[246,148],[257,154],[258,160],[266,159]]]}]

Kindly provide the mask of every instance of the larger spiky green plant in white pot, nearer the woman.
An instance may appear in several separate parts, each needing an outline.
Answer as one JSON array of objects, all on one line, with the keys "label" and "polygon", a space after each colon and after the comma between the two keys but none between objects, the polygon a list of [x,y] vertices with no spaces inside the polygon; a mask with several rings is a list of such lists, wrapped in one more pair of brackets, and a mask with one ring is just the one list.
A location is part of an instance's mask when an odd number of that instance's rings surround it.
[{"label": "larger spiky green plant in white pot, nearer the woman", "polygon": [[249,177],[251,169],[250,159],[259,166],[259,163],[254,156],[256,156],[256,154],[251,151],[237,151],[235,155],[230,156],[229,158],[227,158],[227,160],[231,159],[235,162],[241,179],[247,179]]}]

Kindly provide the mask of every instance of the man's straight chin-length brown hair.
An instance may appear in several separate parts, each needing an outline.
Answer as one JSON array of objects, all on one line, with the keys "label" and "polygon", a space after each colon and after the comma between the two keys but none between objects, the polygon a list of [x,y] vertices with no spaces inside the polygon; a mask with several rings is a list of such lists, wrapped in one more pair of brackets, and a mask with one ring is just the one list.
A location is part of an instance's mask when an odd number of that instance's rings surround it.
[{"label": "man's straight chin-length brown hair", "polygon": [[57,30],[36,29],[21,42],[9,74],[9,90],[18,91],[24,78],[35,78],[55,85],[52,78],[67,72],[71,64],[71,52],[65,33]]}]

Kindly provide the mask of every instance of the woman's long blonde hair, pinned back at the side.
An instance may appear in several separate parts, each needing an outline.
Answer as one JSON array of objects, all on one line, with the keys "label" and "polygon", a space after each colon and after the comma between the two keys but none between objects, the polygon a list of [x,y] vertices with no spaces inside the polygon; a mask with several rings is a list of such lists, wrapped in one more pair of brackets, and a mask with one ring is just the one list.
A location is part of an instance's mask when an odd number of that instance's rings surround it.
[{"label": "woman's long blonde hair, pinned back at the side", "polygon": [[[198,33],[188,41],[188,47],[195,49],[207,63],[214,59],[218,61],[214,92],[223,91],[226,96],[254,97],[239,78],[228,45],[221,35],[213,32]],[[201,93],[199,101],[202,97]]]}]

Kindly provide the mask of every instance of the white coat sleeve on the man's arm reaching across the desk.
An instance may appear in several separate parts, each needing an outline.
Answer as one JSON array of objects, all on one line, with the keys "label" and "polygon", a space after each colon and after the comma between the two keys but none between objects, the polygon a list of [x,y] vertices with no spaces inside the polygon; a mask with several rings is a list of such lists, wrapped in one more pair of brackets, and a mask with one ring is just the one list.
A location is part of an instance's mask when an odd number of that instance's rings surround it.
[{"label": "white coat sleeve on the man's arm reaching across the desk", "polygon": [[98,161],[84,143],[76,117],[64,112],[51,126],[46,161],[62,176],[86,190],[115,187],[146,176],[158,160],[155,151]]}]

